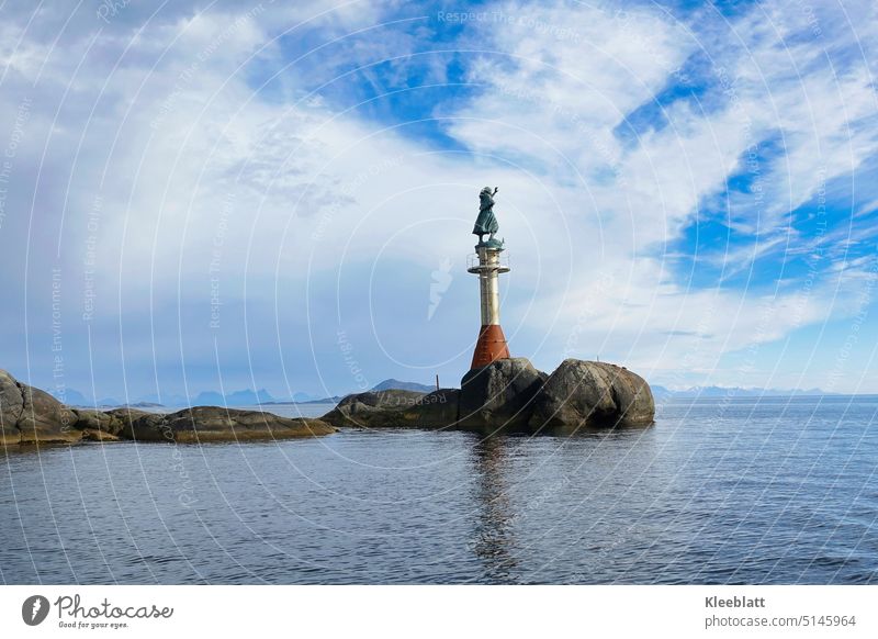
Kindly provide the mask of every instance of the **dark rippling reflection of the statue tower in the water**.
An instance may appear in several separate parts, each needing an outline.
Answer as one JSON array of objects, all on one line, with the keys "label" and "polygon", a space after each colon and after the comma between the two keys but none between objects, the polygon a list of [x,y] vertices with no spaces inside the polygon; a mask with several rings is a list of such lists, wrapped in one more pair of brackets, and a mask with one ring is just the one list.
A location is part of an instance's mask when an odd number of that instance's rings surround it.
[{"label": "dark rippling reflection of the statue tower in the water", "polygon": [[511,583],[517,567],[513,553],[515,516],[507,482],[509,439],[505,436],[480,438],[473,447],[475,484],[475,538],[473,552],[484,564],[488,582]]}]

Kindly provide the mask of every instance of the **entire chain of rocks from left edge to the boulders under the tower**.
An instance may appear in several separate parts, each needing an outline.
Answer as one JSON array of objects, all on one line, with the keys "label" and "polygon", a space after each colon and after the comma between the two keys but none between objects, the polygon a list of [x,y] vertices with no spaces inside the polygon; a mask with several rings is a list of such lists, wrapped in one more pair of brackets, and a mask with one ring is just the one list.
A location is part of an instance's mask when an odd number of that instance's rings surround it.
[{"label": "entire chain of rocks from left edge to the boulders under the tower", "polygon": [[461,389],[347,395],[320,418],[195,406],[176,413],[75,408],[0,370],[0,445],[82,441],[247,441],[318,437],[342,427],[453,428],[558,434],[649,426],[655,402],[643,378],[611,363],[567,359],[551,374],[524,358],[472,370]]}]

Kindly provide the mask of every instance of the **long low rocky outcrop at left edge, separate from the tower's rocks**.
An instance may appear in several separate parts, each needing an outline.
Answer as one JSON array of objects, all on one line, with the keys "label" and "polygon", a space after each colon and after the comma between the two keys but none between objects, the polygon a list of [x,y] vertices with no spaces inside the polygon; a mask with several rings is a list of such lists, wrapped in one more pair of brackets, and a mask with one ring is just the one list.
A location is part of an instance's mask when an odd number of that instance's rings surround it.
[{"label": "long low rocky outcrop at left edge, separate from the tower's rocks", "polygon": [[335,433],[320,419],[279,417],[217,406],[170,415],[135,408],[70,408],[0,370],[0,446],[77,441],[236,441],[315,437]]}]

